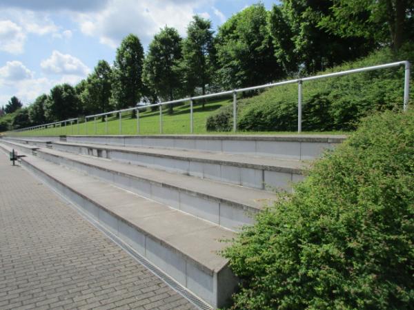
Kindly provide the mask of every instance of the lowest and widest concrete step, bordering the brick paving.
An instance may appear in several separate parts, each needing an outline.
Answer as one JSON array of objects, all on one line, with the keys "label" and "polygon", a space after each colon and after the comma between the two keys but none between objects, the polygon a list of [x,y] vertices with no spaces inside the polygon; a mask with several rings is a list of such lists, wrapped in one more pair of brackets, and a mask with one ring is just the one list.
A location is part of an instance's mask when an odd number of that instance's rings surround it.
[{"label": "lowest and widest concrete step, bordering the brick paving", "polygon": [[226,304],[237,278],[217,251],[232,231],[36,156],[21,164],[208,304]]}]

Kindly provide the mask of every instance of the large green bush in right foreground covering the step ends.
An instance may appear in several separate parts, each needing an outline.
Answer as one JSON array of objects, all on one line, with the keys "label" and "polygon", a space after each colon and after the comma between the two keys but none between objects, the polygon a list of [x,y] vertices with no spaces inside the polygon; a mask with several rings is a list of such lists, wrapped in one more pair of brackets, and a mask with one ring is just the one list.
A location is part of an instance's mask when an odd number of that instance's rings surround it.
[{"label": "large green bush in right foreground covering the step ends", "polygon": [[364,119],[224,256],[232,309],[413,309],[414,112]]}]

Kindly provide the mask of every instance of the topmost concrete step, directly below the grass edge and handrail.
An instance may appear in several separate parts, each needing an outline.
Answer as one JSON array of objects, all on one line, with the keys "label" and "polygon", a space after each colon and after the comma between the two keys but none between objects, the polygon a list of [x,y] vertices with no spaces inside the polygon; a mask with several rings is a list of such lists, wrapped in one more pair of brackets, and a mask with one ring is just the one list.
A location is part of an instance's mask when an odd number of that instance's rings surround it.
[{"label": "topmost concrete step, directly below the grass edge and handrail", "polygon": [[324,149],[344,141],[342,135],[152,135],[152,136],[67,136],[70,143],[93,143],[128,147],[166,147],[206,152],[250,154],[294,160],[319,157]]}]

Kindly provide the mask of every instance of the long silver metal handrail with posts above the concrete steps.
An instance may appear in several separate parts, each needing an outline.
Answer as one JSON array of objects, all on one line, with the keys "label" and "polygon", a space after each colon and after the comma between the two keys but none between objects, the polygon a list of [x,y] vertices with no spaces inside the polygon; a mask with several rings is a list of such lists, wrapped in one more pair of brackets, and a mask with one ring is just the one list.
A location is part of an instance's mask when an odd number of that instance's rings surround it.
[{"label": "long silver metal handrail with posts above the concrete steps", "polygon": [[[365,67],[365,68],[358,68],[358,69],[353,69],[353,70],[346,70],[346,71],[341,71],[341,72],[333,72],[333,73],[328,73],[328,74],[321,74],[321,75],[317,75],[317,76],[308,76],[308,77],[304,77],[304,78],[300,78],[300,79],[292,79],[292,80],[288,80],[288,81],[281,81],[281,82],[277,82],[277,83],[268,83],[268,84],[264,84],[264,85],[258,85],[258,86],[253,86],[253,87],[245,87],[245,88],[239,88],[236,90],[227,90],[225,92],[216,92],[214,94],[205,94],[205,95],[201,95],[201,96],[193,96],[193,97],[188,97],[188,98],[184,98],[184,99],[177,99],[177,100],[172,100],[172,101],[165,101],[165,102],[161,102],[161,103],[155,103],[153,105],[144,105],[144,106],[139,106],[139,107],[129,107],[128,109],[122,109],[122,110],[114,110],[114,111],[110,111],[110,112],[104,112],[104,113],[99,113],[99,114],[92,114],[92,115],[88,115],[85,116],[85,123],[88,122],[88,118],[94,118],[95,121],[95,134],[97,131],[97,125],[96,125],[96,121],[97,121],[97,117],[99,116],[106,116],[105,121],[106,121],[106,131],[108,131],[108,115],[109,114],[115,114],[115,113],[119,113],[119,134],[121,134],[121,114],[123,112],[128,112],[128,111],[132,111],[132,110],[136,110],[137,111],[137,133],[139,133],[139,110],[141,109],[147,109],[148,107],[159,107],[159,132],[162,134],[162,106],[163,105],[170,105],[173,103],[181,103],[181,102],[186,102],[186,101],[190,101],[190,133],[193,134],[193,104],[195,100],[198,99],[207,99],[207,98],[213,98],[216,96],[225,96],[225,95],[229,95],[229,94],[233,94],[233,132],[237,131],[237,94],[239,92],[248,92],[250,90],[261,90],[263,88],[268,88],[268,87],[275,87],[275,86],[281,86],[281,85],[288,85],[288,84],[294,84],[297,83],[298,85],[298,99],[297,99],[297,132],[302,132],[302,84],[303,82],[306,81],[313,81],[313,80],[317,80],[317,79],[325,79],[328,77],[335,77],[335,76],[343,76],[343,75],[347,75],[347,74],[353,74],[353,73],[359,73],[359,72],[367,72],[367,71],[372,71],[372,70],[380,70],[380,69],[385,69],[385,68],[392,68],[392,67],[397,67],[400,65],[404,65],[405,67],[405,74],[404,74],[404,102],[403,102],[403,110],[406,111],[408,108],[408,99],[409,99],[409,92],[410,92],[410,63],[408,61],[397,61],[395,63],[386,63],[384,65],[373,65],[371,67]],[[77,120],[78,122],[78,134],[79,134],[79,119],[78,118],[72,118],[72,120]],[[67,121],[71,121],[71,120],[66,120],[66,121],[61,121],[61,122],[57,122],[57,123],[63,123],[63,122],[67,122]],[[44,127],[47,125],[53,125],[56,123],[50,123],[50,124],[46,124],[46,125],[38,125],[38,126],[34,126],[34,127]],[[31,128],[33,127],[29,127],[29,128],[23,128],[22,130],[31,130]],[[87,129],[87,127],[86,127]],[[22,131],[19,130],[19,131]]]}]

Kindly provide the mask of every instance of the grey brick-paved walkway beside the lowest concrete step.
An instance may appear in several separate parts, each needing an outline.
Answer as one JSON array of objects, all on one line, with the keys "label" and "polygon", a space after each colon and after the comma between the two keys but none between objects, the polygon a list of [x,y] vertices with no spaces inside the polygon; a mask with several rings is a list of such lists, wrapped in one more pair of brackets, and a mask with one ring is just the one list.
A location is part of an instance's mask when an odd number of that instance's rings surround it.
[{"label": "grey brick-paved walkway beside the lowest concrete step", "polygon": [[0,152],[0,309],[195,309]]}]

